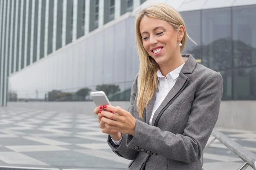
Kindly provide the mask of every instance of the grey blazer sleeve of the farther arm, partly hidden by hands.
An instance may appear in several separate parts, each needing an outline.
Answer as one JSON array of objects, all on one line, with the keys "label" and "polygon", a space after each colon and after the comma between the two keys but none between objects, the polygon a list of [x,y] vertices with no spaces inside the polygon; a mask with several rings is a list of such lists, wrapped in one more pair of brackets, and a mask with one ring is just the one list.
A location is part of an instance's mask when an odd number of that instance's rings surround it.
[{"label": "grey blazer sleeve of the farther arm, partly hidden by hands", "polygon": [[[128,108],[128,112],[130,112],[133,116],[134,116],[134,107],[136,106],[136,102],[135,102],[135,98],[136,98],[136,94],[137,94],[137,78],[138,78],[137,74],[135,76],[132,88],[131,88],[131,106]],[[131,149],[129,147],[127,147],[127,134],[122,134],[122,140],[120,145],[116,145],[112,139],[111,136],[108,135],[108,145],[111,147],[111,149],[113,150],[114,153],[116,153],[116,155],[123,157],[125,159],[129,159],[129,160],[133,160],[136,158],[137,154],[139,153],[137,150]]]}]

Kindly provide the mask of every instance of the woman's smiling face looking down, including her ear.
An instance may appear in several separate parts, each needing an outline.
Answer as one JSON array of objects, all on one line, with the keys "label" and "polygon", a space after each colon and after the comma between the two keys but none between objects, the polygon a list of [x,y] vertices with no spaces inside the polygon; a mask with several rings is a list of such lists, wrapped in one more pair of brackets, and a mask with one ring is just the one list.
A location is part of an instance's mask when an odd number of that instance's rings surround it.
[{"label": "woman's smiling face looking down, including her ear", "polygon": [[179,31],[164,20],[144,16],[140,21],[143,47],[158,65],[169,64],[180,54],[179,43],[183,37],[183,26]]}]

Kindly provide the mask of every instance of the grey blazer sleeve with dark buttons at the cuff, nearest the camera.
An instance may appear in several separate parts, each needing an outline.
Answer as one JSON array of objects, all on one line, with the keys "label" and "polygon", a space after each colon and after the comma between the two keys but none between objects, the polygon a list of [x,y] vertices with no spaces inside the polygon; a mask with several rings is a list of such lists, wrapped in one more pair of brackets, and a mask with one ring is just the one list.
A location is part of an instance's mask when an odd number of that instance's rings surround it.
[{"label": "grey blazer sleeve with dark buttons at the cuff, nearest the camera", "polygon": [[[213,73],[195,92],[183,134],[162,131],[136,119],[134,136],[128,135],[127,146],[134,146],[186,163],[198,161],[218,119],[223,80]],[[131,153],[131,151],[129,151]]]}]

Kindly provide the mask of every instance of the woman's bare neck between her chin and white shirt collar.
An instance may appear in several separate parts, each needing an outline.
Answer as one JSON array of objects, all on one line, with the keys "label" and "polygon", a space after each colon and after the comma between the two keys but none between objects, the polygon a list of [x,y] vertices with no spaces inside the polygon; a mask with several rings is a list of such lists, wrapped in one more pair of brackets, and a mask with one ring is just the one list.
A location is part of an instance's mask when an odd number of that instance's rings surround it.
[{"label": "woman's bare neck between her chin and white shirt collar", "polygon": [[164,77],[169,74],[171,71],[174,71],[180,65],[184,63],[181,54],[177,55],[177,57],[171,57],[167,62],[164,64],[159,65],[159,69]]}]

